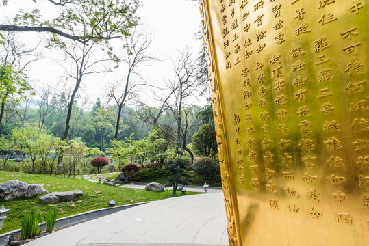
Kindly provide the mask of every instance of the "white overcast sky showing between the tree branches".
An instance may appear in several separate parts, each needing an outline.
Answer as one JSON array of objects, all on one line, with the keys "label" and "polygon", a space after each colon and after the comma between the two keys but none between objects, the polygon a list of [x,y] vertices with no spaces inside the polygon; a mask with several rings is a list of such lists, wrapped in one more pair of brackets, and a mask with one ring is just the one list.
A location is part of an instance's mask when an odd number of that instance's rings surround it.
[{"label": "white overcast sky showing between the tree branches", "polygon": [[[160,61],[155,61],[149,67],[140,70],[140,74],[151,85],[163,87],[163,80],[167,80],[173,74],[173,66],[170,59],[175,59],[178,51],[183,51],[186,46],[190,49],[193,57],[196,58],[201,49],[201,40],[196,40],[194,34],[201,27],[201,17],[197,1],[191,0],[140,0],[141,6],[138,9],[140,23],[145,29],[154,33],[154,41],[151,44],[149,53],[155,54]],[[8,5],[1,7],[1,22],[6,18],[12,19],[19,9],[30,11],[35,8],[41,10],[41,13],[47,18],[53,18],[56,12],[53,8],[44,8],[50,6],[47,0],[38,0],[36,3],[32,0],[10,0]],[[46,11],[45,11],[46,10]],[[34,43],[33,40],[42,36],[32,34],[22,34],[23,42]],[[117,47],[118,48],[118,47]],[[63,57],[58,51],[42,49],[44,59],[36,61],[27,67],[31,85],[36,89],[51,85],[57,90],[68,90],[64,83],[61,83],[61,77],[64,75],[63,65],[68,69],[71,64],[61,61]],[[119,54],[118,54],[119,55]],[[105,94],[105,88],[108,83],[125,79],[124,66],[114,74],[93,75],[84,78],[82,90],[88,95],[90,100],[102,98]],[[133,78],[138,79],[138,77]],[[141,91],[147,100],[153,101],[149,92]],[[161,92],[157,92],[160,94]],[[203,98],[192,98],[191,104],[203,105]],[[154,103],[152,103],[154,105]]]}]

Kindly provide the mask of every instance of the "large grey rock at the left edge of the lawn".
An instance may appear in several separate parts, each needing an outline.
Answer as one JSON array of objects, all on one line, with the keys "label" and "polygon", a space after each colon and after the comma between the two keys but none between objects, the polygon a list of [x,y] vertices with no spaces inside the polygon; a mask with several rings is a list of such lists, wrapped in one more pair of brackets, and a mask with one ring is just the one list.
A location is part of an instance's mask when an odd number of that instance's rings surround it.
[{"label": "large grey rock at the left edge of the lawn", "polygon": [[5,200],[12,200],[16,197],[31,197],[49,193],[40,184],[27,184],[26,182],[11,180],[0,184],[0,197]]}]

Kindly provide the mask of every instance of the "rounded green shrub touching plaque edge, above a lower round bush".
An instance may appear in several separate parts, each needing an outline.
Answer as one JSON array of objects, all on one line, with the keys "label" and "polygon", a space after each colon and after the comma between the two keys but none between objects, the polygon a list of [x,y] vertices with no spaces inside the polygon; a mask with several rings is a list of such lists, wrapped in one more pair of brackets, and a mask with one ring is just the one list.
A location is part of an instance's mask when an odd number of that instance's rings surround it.
[{"label": "rounded green shrub touching plaque edge, above a lower round bush", "polygon": [[218,145],[214,126],[205,124],[192,137],[194,152],[199,156],[216,157]]}]

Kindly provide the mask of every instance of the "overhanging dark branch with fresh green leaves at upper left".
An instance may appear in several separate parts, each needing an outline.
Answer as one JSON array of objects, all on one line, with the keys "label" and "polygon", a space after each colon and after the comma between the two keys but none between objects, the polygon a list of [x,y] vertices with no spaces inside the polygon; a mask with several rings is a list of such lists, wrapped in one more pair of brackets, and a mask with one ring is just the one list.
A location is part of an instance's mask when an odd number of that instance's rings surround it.
[{"label": "overhanging dark branch with fresh green leaves at upper left", "polygon": [[[29,0],[30,1],[30,0]],[[32,0],[35,3],[38,0]],[[8,0],[2,0],[3,5]],[[66,38],[88,44],[96,40],[112,40],[127,36],[128,29],[135,25],[136,0],[47,0],[44,5],[53,5],[59,16],[43,20],[40,10],[20,10],[13,23],[1,24],[0,31],[50,33],[53,38]],[[79,28],[82,27],[82,28]],[[79,29],[79,30],[77,30]]]}]

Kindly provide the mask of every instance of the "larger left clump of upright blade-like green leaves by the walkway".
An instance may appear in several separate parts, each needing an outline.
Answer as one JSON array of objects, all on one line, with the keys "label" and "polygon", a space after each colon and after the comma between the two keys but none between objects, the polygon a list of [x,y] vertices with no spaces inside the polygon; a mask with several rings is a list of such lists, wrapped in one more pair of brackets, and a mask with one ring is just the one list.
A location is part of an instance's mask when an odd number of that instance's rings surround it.
[{"label": "larger left clump of upright blade-like green leaves by the walkway", "polygon": [[38,229],[38,224],[41,222],[40,210],[31,208],[25,211],[22,216],[21,239],[34,238],[40,234],[41,229]]}]

